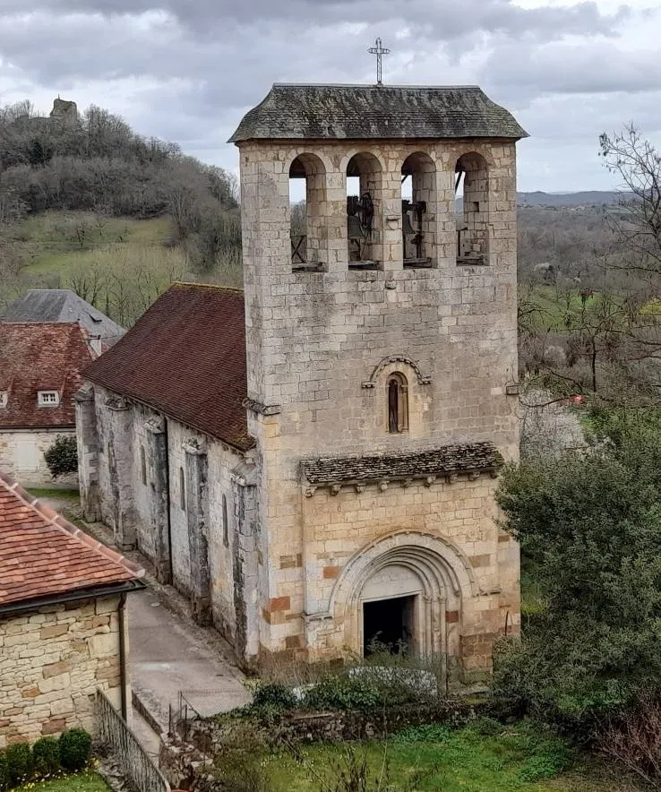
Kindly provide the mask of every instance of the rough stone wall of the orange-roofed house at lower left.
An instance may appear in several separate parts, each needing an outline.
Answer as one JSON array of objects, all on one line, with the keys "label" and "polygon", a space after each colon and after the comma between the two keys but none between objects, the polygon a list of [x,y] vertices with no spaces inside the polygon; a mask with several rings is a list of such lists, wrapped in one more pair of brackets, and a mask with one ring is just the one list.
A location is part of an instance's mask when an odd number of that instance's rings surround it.
[{"label": "rough stone wall of the orange-roofed house at lower left", "polygon": [[93,732],[97,688],[119,708],[118,605],[103,597],[0,619],[0,748]]}]

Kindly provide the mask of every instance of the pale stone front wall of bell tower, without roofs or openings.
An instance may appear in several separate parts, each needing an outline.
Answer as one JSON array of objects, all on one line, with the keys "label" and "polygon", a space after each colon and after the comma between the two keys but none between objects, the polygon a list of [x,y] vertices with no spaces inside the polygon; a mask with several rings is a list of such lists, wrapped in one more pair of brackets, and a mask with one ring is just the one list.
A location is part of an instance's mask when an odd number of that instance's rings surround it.
[{"label": "pale stone front wall of bell tower, without roofs or openings", "polygon": [[[248,403],[256,405],[249,430],[262,465],[262,655],[318,660],[362,651],[361,591],[372,586],[387,597],[399,586],[422,595],[417,646],[446,653],[464,679],[479,676],[490,668],[494,636],[519,624],[519,551],[496,526],[491,475],[310,490],[301,461],[480,441],[517,458],[507,396],[517,374],[514,142],[238,146]],[[320,271],[293,271],[290,168],[311,159],[316,216],[308,234],[319,237],[311,248]],[[425,163],[417,184],[431,210],[425,267],[405,266],[402,249],[402,171],[416,159]],[[375,264],[364,270],[351,269],[348,255],[346,180],[356,162],[369,163],[375,210]],[[468,213],[459,249],[458,163]],[[414,200],[415,190],[414,179]],[[386,383],[394,373],[408,382],[408,431],[389,434]],[[404,572],[411,565],[418,584]],[[389,582],[378,583],[386,567]],[[394,589],[393,575],[401,579]]]}]

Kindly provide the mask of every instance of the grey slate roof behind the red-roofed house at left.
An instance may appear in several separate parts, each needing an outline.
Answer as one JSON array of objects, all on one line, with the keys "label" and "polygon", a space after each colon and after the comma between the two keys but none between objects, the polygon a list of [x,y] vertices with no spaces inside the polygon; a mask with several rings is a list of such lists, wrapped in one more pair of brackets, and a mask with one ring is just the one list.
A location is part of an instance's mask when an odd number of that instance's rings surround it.
[{"label": "grey slate roof behind the red-roofed house at left", "polygon": [[104,348],[124,335],[124,328],[68,288],[30,288],[4,309],[5,322],[78,322],[100,336]]}]

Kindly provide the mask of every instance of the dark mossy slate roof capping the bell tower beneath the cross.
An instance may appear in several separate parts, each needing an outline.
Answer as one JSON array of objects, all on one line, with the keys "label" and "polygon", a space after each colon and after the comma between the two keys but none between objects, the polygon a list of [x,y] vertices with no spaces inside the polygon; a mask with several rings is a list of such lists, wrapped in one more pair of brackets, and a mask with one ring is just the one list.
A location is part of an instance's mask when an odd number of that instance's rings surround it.
[{"label": "dark mossy slate roof capping the bell tower beneath the cross", "polygon": [[291,85],[276,82],[229,142],[528,137],[476,85]]}]

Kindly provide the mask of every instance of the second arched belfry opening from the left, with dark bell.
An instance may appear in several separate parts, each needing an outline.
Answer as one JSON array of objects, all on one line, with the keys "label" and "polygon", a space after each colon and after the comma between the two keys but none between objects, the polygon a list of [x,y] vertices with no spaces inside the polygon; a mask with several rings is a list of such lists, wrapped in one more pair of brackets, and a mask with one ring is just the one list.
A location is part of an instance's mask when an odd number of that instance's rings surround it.
[{"label": "second arched belfry opening from the left, with dark bell", "polygon": [[383,267],[382,167],[360,152],[347,165],[347,237],[350,270]]}]

